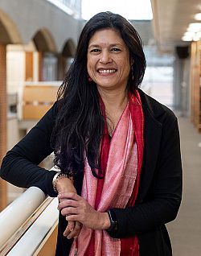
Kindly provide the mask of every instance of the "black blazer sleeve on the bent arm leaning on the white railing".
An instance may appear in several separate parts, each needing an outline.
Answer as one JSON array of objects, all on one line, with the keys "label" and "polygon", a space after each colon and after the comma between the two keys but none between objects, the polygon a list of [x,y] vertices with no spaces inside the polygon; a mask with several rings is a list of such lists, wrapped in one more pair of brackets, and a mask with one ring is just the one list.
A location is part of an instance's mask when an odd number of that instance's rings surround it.
[{"label": "black blazer sleeve on the bent arm leaning on the white railing", "polygon": [[55,171],[47,171],[38,164],[50,155],[51,133],[55,122],[57,103],[18,142],[2,160],[0,175],[3,180],[21,188],[38,187],[49,196],[55,196],[52,179]]}]

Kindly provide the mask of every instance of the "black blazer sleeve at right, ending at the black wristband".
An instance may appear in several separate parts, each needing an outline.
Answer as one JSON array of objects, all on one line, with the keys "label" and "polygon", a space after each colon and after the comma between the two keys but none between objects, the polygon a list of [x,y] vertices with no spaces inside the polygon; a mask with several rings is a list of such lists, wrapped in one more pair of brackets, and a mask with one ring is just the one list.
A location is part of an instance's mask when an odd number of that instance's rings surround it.
[{"label": "black blazer sleeve at right, ending at the black wristband", "polygon": [[118,229],[115,233],[109,233],[111,237],[130,237],[145,233],[173,221],[177,216],[182,197],[178,122],[172,116],[166,119],[162,125],[160,150],[150,195],[133,207],[114,209]]}]

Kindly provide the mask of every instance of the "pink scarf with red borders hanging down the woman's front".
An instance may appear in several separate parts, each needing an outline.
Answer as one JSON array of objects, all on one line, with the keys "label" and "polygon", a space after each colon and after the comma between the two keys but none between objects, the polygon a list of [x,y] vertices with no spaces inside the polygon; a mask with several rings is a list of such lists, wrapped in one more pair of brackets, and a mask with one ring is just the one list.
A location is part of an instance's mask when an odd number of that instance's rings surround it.
[{"label": "pink scarf with red borders hanging down the woman's front", "polygon": [[[100,151],[100,166],[105,170],[105,178],[97,180],[85,160],[82,196],[99,212],[112,208],[125,209],[132,206],[137,197],[143,155],[143,114],[139,94],[129,98],[110,145],[105,128]],[[77,245],[78,256],[89,255],[91,250],[94,256],[138,256],[137,237],[112,238],[105,230],[84,226]],[[74,255],[75,247],[76,242],[73,242],[70,256]],[[131,248],[129,254],[125,252],[127,247]]]}]

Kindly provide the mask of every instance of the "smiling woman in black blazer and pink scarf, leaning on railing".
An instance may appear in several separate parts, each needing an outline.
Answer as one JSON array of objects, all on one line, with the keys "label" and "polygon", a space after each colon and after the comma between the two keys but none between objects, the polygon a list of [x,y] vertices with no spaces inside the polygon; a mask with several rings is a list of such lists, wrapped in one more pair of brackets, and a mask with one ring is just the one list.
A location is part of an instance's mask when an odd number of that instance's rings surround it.
[{"label": "smiling woman in black blazer and pink scarf, leaning on railing", "polygon": [[[181,201],[178,123],[138,89],[145,68],[133,26],[96,14],[58,101],[3,159],[3,179],[58,193],[56,255],[172,255],[165,224]],[[61,173],[37,166],[52,151]]]}]

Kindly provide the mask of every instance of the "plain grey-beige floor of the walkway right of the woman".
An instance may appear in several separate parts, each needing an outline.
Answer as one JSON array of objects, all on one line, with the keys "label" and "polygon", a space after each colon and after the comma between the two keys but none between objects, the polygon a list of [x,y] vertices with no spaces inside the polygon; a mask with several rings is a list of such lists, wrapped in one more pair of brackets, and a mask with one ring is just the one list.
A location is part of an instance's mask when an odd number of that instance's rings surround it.
[{"label": "plain grey-beige floor of the walkway right of the woman", "polygon": [[178,117],[183,160],[183,201],[167,225],[174,256],[201,255],[201,134],[188,118]]}]

